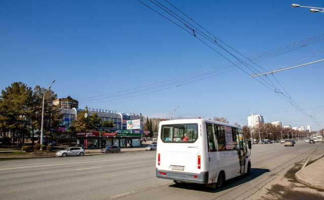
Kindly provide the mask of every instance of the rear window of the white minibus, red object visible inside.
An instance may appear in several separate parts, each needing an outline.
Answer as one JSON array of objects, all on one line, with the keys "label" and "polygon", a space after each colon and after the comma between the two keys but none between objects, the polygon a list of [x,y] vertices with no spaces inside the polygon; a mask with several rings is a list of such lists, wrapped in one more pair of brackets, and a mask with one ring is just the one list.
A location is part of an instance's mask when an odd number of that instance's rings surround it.
[{"label": "rear window of the white minibus, red object visible inside", "polygon": [[161,139],[164,142],[193,143],[198,138],[198,124],[162,125]]}]

